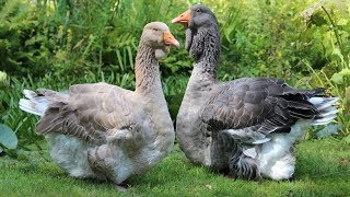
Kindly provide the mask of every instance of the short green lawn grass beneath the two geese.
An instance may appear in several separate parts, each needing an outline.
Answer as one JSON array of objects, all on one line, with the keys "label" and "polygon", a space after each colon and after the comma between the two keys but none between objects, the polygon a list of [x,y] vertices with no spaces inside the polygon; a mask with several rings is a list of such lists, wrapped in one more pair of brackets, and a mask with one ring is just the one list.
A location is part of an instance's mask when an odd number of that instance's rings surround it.
[{"label": "short green lawn grass beneath the two geese", "polygon": [[66,175],[35,152],[30,161],[0,158],[1,196],[347,196],[350,195],[350,146],[334,139],[296,147],[292,182],[231,179],[189,163],[177,146],[155,169],[127,181],[126,194],[110,183]]}]

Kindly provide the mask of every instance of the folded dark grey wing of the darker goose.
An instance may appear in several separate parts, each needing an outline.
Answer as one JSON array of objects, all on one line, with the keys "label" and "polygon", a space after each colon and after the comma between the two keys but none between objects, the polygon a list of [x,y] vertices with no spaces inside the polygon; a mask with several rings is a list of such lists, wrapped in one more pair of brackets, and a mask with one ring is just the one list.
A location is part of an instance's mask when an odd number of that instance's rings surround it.
[{"label": "folded dark grey wing of the darker goose", "polygon": [[322,91],[296,90],[279,79],[243,78],[219,84],[200,117],[213,130],[243,129],[244,135],[289,131],[299,118],[316,115],[316,107],[307,100]]}]

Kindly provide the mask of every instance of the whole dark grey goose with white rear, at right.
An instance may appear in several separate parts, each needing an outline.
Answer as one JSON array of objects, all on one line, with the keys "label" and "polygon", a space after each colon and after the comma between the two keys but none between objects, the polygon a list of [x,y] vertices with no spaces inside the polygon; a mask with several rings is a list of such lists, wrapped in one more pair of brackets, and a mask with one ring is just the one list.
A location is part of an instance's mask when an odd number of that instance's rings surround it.
[{"label": "whole dark grey goose with white rear, at right", "polygon": [[242,78],[219,82],[220,33],[214,13],[196,4],[175,18],[186,28],[194,69],[176,117],[176,135],[196,164],[231,177],[292,178],[293,144],[311,125],[330,123],[337,97],[324,89],[298,90],[281,79]]}]

